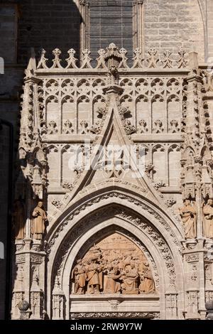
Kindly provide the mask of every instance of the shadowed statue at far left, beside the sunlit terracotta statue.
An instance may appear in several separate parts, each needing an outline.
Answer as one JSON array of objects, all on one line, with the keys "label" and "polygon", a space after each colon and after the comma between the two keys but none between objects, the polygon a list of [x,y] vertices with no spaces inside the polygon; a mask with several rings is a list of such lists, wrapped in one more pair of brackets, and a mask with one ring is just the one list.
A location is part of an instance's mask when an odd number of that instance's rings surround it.
[{"label": "shadowed statue at far left, beside the sunlit terracotta statue", "polygon": [[12,215],[13,230],[16,239],[23,239],[25,237],[25,210],[20,200],[16,200],[14,203],[14,212]]}]

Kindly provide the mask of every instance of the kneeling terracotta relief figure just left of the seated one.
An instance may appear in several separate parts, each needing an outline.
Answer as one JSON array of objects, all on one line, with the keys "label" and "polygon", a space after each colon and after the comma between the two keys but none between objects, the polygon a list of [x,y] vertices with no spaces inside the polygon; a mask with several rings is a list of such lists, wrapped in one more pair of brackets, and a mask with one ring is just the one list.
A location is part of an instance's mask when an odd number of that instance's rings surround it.
[{"label": "kneeling terracotta relief figure just left of the seated one", "polygon": [[119,266],[109,266],[107,269],[107,283],[104,287],[104,293],[118,293],[121,291],[121,283],[119,279],[121,273]]}]

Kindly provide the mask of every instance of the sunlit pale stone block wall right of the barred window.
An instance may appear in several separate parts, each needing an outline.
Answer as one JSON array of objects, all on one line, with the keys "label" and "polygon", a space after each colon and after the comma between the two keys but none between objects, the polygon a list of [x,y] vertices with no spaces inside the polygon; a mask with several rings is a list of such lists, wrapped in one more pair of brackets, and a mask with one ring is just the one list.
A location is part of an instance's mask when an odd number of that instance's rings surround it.
[{"label": "sunlit pale stone block wall right of the barred window", "polygon": [[145,49],[197,51],[204,60],[204,24],[197,0],[145,0]]}]

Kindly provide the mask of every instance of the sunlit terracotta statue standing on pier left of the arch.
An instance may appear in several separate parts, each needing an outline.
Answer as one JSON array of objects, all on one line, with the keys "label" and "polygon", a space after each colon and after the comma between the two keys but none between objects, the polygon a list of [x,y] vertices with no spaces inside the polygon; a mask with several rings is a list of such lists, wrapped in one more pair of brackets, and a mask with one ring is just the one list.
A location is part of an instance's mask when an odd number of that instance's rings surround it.
[{"label": "sunlit terracotta statue standing on pier left of the arch", "polygon": [[38,202],[38,205],[33,210],[33,222],[31,225],[31,235],[33,239],[41,240],[45,232],[45,221],[48,218],[43,210],[43,202]]}]

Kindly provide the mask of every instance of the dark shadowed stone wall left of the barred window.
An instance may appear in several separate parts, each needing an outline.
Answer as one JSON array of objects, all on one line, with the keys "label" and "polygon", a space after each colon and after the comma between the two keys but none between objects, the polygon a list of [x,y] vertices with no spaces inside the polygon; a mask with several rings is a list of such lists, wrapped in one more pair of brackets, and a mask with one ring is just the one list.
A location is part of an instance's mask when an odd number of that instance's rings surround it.
[{"label": "dark shadowed stone wall left of the barred window", "polygon": [[50,59],[55,48],[64,58],[70,48],[79,56],[82,17],[72,0],[22,0],[19,9],[18,63],[27,63],[32,47],[35,53],[44,48]]}]

